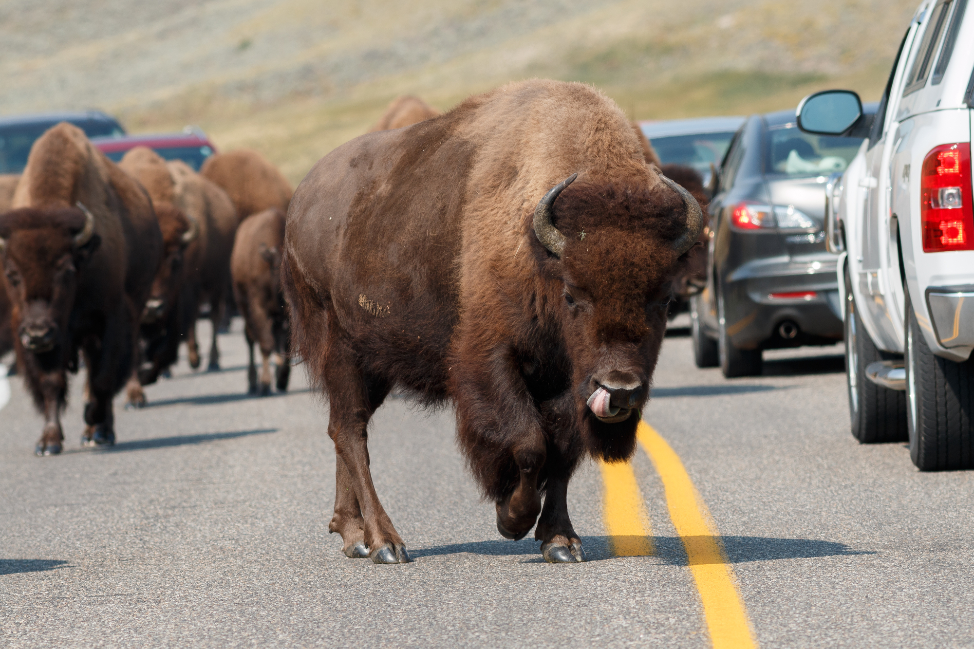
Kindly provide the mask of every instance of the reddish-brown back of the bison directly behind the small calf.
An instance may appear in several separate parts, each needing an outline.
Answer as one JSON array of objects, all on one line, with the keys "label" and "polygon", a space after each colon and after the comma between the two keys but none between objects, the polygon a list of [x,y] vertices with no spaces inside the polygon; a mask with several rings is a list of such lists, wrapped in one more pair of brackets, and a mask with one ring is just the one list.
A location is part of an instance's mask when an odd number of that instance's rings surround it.
[{"label": "reddish-brown back of the bison directly behind the small calf", "polygon": [[240,220],[269,208],[286,212],[294,193],[278,168],[250,149],[210,156],[200,173],[227,192]]}]

